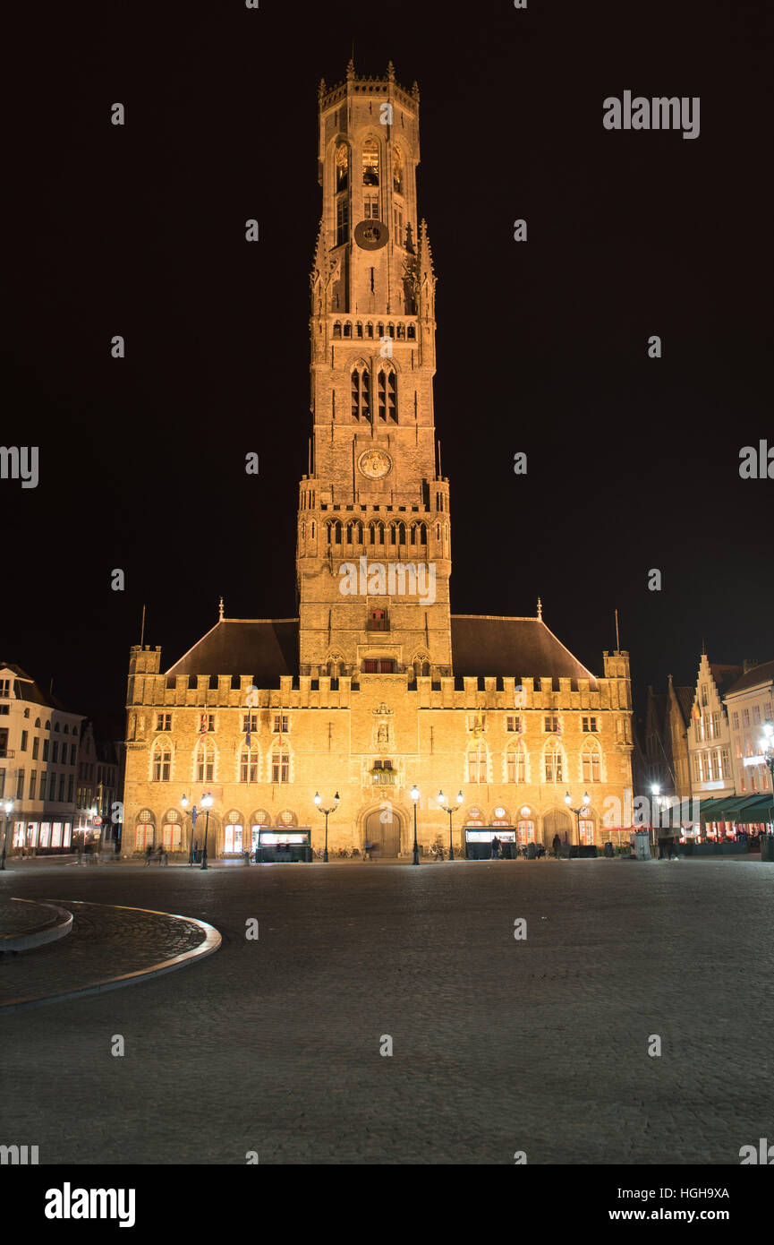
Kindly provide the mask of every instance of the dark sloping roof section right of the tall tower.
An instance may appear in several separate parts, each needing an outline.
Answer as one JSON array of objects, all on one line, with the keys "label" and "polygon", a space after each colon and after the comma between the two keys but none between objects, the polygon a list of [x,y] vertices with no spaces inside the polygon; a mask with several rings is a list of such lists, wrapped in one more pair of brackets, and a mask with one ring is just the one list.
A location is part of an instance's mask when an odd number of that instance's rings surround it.
[{"label": "dark sloping roof section right of the tall tower", "polygon": [[453,614],[452,656],[458,677],[587,679],[596,687],[596,676],[543,619]]}]

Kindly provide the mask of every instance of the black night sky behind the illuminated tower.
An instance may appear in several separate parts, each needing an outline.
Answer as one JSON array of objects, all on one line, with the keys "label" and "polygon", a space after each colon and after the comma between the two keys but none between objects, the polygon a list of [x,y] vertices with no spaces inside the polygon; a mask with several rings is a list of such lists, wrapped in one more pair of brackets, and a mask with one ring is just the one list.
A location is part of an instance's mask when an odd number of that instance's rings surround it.
[{"label": "black night sky behind the illuminated tower", "polygon": [[[640,702],[693,682],[702,640],[774,655],[774,481],[739,478],[774,444],[770,5],[27,7],[5,25],[1,439],[40,447],[40,483],[0,481],[0,657],[121,737],[143,603],[163,669],[220,594],[295,615],[317,83],[352,46],[421,90],[453,613],[540,595],[601,674],[617,606]],[[699,137],[606,131],[625,90],[699,96]]]}]

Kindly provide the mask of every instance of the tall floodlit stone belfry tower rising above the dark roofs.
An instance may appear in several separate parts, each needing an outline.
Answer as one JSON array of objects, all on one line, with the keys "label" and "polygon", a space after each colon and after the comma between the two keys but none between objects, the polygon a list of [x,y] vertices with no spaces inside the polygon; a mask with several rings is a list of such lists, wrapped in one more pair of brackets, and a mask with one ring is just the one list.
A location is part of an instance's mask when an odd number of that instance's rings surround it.
[{"label": "tall floodlit stone belfry tower rising above the dark roofs", "polygon": [[452,674],[449,489],[436,467],[436,278],[418,218],[419,92],[319,90],[310,473],[300,484],[300,674]]}]

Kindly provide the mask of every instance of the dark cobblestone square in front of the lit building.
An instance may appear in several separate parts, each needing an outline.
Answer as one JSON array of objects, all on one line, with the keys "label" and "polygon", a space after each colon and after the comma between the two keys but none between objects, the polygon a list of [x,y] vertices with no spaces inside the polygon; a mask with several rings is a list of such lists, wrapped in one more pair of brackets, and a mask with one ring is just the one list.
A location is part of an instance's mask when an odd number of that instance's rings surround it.
[{"label": "dark cobblestone square in front of the lit building", "polygon": [[[772,1135],[774,865],[758,859],[35,863],[0,895],[223,935],[182,971],[0,1016],[0,1142],[41,1163],[738,1165]],[[102,915],[106,976],[148,959],[146,935]],[[78,946],[73,929],[5,957],[1,996],[30,992],[20,970],[41,956],[71,980]]]}]

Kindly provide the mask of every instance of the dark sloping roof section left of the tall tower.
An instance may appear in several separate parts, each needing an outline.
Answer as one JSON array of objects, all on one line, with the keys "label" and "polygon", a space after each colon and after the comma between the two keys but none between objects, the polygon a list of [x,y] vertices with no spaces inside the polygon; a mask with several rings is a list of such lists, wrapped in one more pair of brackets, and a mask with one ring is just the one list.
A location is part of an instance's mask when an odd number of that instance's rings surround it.
[{"label": "dark sloping roof section left of the tall tower", "polygon": [[170,666],[173,675],[251,675],[273,687],[297,674],[297,619],[221,619]]}]

